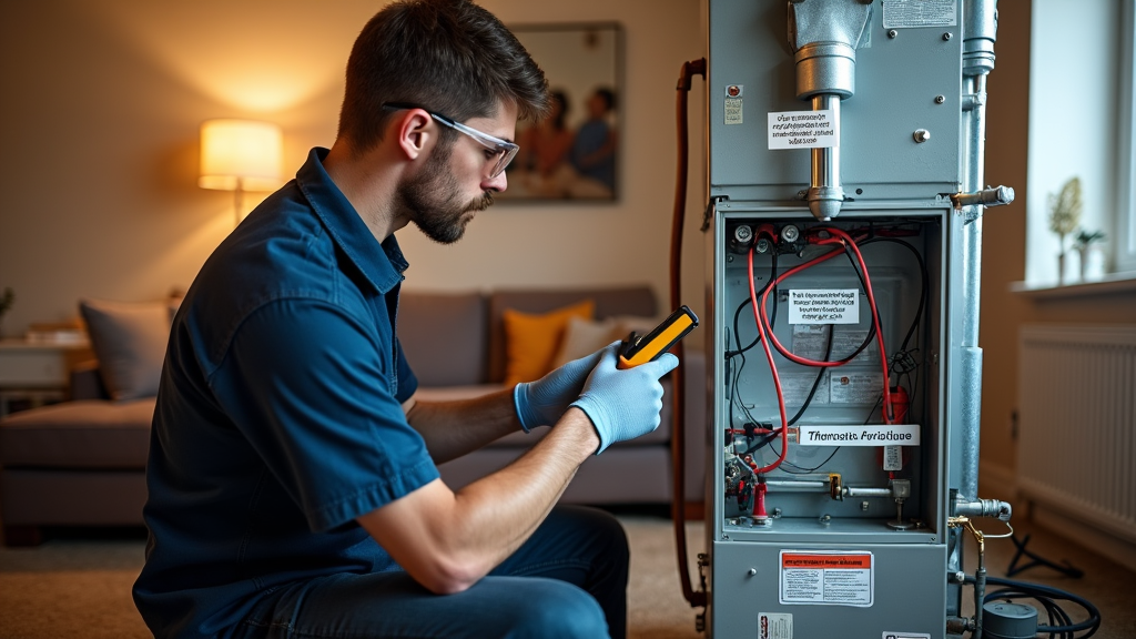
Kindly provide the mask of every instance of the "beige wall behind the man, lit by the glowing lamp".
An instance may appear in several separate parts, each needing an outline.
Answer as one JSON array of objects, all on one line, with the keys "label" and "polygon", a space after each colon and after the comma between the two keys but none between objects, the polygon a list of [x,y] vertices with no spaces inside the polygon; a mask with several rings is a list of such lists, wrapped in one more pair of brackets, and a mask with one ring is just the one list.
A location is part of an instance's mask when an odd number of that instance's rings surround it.
[{"label": "beige wall behind the man, lit by the glowing lamp", "polygon": [[[610,205],[498,205],[456,246],[399,234],[408,288],[649,283],[667,305],[674,92],[703,52],[699,0],[485,0],[506,23],[625,27],[624,192]],[[156,299],[186,288],[232,230],[232,193],[197,188],[198,127],[279,123],[286,174],[329,146],[342,74],[374,0],[42,0],[0,20],[0,289],[5,335],[76,314],[76,300]],[[701,103],[692,105],[692,122]],[[694,128],[691,166],[704,164]],[[702,179],[695,173],[692,184]],[[256,204],[260,196],[247,198]],[[701,189],[691,193],[700,210]],[[698,215],[692,215],[698,217]],[[691,229],[688,290],[701,249]],[[692,292],[695,309],[701,287]]]}]

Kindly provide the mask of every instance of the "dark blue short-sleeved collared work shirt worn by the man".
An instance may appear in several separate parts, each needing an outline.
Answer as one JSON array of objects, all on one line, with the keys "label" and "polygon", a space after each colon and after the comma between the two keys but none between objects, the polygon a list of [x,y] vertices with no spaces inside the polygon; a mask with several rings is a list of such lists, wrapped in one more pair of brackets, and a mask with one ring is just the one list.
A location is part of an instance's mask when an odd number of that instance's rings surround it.
[{"label": "dark blue short-sleeved collared work shirt worn by the man", "polygon": [[354,517],[437,479],[401,404],[407,263],[324,171],[325,149],[202,266],[158,391],[134,600],[158,637],[225,636],[258,598],[396,569]]}]

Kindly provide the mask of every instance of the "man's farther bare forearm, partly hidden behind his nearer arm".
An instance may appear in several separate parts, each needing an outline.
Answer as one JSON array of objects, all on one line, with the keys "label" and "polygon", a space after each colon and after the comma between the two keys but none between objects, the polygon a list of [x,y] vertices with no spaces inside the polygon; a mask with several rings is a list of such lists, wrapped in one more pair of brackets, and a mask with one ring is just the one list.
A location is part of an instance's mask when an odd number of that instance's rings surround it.
[{"label": "man's farther bare forearm, partly hidden behind his nearer arm", "polygon": [[454,401],[418,401],[407,421],[423,435],[435,464],[444,464],[520,430],[512,389]]}]

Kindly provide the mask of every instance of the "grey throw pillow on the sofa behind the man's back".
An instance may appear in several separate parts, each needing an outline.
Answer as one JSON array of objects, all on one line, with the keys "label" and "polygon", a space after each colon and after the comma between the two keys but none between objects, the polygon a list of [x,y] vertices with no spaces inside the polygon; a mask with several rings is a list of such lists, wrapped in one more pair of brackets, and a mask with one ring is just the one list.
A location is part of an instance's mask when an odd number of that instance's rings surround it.
[{"label": "grey throw pillow on the sofa behind the man's back", "polygon": [[126,400],[158,395],[169,340],[169,306],[84,299],[78,308],[110,397]]}]

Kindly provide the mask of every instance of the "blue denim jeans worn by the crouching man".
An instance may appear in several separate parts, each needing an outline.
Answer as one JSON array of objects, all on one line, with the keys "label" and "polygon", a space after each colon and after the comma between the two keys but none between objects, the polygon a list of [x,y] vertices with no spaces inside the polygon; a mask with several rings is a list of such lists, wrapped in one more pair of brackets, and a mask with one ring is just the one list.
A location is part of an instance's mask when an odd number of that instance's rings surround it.
[{"label": "blue denim jeans worn by the crouching man", "polygon": [[434,595],[402,571],[323,576],[273,592],[234,637],[623,639],[627,563],[627,537],[615,517],[557,506],[463,592]]}]

